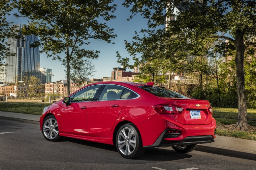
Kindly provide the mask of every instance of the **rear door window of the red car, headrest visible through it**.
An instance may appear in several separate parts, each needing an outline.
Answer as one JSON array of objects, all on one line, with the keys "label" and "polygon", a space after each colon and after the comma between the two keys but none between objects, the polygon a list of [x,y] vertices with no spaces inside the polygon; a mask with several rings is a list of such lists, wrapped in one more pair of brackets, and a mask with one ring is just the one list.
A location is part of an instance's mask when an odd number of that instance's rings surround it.
[{"label": "rear door window of the red car, headrest visible through it", "polygon": [[99,100],[118,100],[120,99],[124,87],[116,85],[106,85],[100,94]]}]

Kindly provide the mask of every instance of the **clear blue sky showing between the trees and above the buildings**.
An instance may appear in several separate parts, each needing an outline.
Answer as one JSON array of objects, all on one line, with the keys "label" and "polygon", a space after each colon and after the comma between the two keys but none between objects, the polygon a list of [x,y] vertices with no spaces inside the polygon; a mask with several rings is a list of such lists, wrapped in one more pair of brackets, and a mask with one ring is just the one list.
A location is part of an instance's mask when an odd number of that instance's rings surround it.
[{"label": "clear blue sky showing between the trees and above the buildings", "polygon": [[[89,41],[91,43],[84,47],[85,49],[100,51],[97,59],[91,59],[97,71],[93,78],[111,77],[113,68],[121,67],[120,63],[117,62],[116,51],[119,51],[124,58],[130,57],[130,64],[132,64],[132,57],[125,49],[124,40],[131,42],[132,37],[135,36],[135,31],[147,28],[147,20],[140,15],[127,20],[131,13],[128,8],[121,5],[123,2],[124,0],[114,0],[114,3],[117,4],[117,10],[114,12],[116,18],[107,22],[107,26],[114,28],[114,34],[117,34],[117,38],[113,40],[115,44],[106,43],[102,40],[91,40]],[[16,18],[13,15],[8,16],[7,20],[13,24],[28,24],[28,18]],[[61,63],[59,60],[47,58],[45,53],[40,54],[40,68],[52,69],[53,82],[66,79],[65,67]],[[127,69],[126,71],[131,70]]]}]

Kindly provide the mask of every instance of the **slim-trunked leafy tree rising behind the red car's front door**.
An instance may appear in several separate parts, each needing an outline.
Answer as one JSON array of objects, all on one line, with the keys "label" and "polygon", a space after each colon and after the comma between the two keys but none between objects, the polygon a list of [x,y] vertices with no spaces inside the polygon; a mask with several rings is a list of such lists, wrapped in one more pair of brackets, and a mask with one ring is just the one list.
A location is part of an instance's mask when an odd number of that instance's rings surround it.
[{"label": "slim-trunked leafy tree rising behind the red car's front door", "polygon": [[[99,51],[86,50],[89,39],[101,39],[111,43],[116,37],[105,21],[115,16],[113,0],[20,0],[19,12],[31,21],[22,30],[23,35],[34,34],[42,46],[41,53],[53,57],[66,66],[67,89],[70,94],[70,64],[83,57],[97,58]],[[65,57],[62,57],[65,53]]]}]

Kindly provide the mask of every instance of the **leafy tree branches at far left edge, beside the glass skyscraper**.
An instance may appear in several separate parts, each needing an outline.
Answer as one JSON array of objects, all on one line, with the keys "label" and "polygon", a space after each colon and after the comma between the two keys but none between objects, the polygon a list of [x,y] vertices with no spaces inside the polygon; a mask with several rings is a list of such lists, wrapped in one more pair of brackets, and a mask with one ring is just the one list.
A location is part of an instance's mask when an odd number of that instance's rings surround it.
[{"label": "leafy tree branches at far left edge, beside the glass skyscraper", "polygon": [[9,52],[9,44],[6,42],[8,38],[15,37],[14,27],[10,27],[11,23],[6,20],[6,15],[10,15],[9,12],[13,9],[13,5],[10,0],[0,1],[0,69],[4,65],[3,59],[5,57],[15,55]]}]

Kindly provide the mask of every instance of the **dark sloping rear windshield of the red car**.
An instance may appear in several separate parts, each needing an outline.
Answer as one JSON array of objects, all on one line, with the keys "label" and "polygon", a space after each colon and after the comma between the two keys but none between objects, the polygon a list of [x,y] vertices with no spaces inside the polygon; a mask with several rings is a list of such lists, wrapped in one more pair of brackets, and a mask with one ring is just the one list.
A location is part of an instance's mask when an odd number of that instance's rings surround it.
[{"label": "dark sloping rear windshield of the red car", "polygon": [[154,94],[157,97],[171,97],[171,98],[190,98],[188,96],[185,96],[184,94],[181,94],[177,91],[173,91],[171,89],[167,89],[165,87],[159,87],[159,86],[137,86],[143,90],[146,90],[147,92],[150,92],[151,94]]}]

